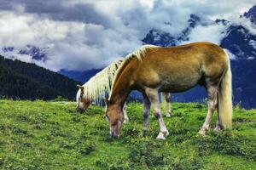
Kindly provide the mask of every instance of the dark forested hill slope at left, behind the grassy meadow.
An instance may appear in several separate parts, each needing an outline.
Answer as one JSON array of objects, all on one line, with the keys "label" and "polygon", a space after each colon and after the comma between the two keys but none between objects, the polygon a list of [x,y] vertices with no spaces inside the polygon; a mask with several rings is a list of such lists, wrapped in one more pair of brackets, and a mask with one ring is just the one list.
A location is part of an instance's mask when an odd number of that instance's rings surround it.
[{"label": "dark forested hill slope at left, behind the grassy meadow", "polygon": [[75,99],[75,82],[38,65],[0,56],[0,96],[11,99]]}]

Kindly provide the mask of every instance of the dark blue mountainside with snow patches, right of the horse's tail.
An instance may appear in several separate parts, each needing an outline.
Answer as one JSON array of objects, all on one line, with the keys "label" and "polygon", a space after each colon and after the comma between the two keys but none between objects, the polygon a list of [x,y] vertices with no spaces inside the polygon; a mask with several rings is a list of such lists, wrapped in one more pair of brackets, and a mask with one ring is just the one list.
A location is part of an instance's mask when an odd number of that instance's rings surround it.
[{"label": "dark blue mountainside with snow patches, right of the horse's tail", "polygon": [[244,26],[230,26],[220,46],[236,56],[231,60],[233,94],[236,103],[256,106],[256,35]]}]

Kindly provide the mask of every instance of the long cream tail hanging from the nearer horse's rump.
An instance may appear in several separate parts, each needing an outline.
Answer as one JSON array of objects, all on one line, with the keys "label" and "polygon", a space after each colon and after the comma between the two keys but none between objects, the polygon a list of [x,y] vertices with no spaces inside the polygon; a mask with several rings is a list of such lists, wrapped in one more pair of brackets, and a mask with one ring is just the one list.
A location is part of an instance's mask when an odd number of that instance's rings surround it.
[{"label": "long cream tail hanging from the nearer horse's rump", "polygon": [[223,128],[232,128],[232,73],[228,54],[228,68],[224,72],[218,89],[218,116],[219,125]]}]

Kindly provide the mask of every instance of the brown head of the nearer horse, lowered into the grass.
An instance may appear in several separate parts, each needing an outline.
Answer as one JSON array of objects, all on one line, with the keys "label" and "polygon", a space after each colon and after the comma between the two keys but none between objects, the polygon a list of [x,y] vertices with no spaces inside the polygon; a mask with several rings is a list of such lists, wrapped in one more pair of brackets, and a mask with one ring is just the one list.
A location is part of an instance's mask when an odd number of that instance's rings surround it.
[{"label": "brown head of the nearer horse, lowered into the grass", "polygon": [[122,124],[125,120],[124,111],[119,105],[112,104],[108,99],[104,99],[107,105],[106,117],[108,118],[110,135],[119,138]]}]

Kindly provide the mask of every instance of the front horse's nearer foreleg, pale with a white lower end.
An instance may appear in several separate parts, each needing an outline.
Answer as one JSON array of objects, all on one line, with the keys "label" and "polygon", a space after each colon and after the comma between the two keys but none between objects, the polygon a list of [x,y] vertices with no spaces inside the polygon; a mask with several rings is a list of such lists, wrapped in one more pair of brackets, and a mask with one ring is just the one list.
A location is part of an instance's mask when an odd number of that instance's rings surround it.
[{"label": "front horse's nearer foreleg, pale with a white lower end", "polygon": [[158,119],[160,123],[160,133],[157,136],[157,139],[166,139],[166,136],[168,136],[169,132],[166,128],[163,116],[160,112],[160,102],[158,97],[158,90],[154,88],[146,88],[145,92],[148,96],[148,99],[153,106],[154,109],[154,116]]}]

